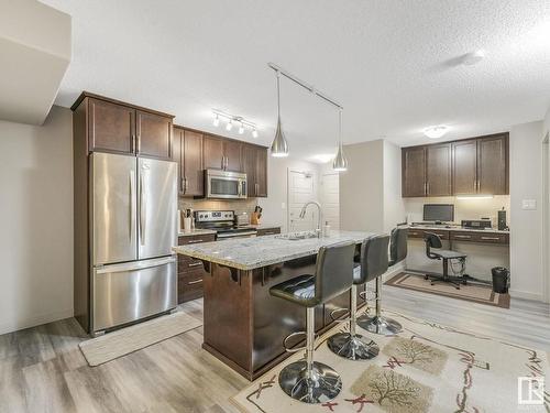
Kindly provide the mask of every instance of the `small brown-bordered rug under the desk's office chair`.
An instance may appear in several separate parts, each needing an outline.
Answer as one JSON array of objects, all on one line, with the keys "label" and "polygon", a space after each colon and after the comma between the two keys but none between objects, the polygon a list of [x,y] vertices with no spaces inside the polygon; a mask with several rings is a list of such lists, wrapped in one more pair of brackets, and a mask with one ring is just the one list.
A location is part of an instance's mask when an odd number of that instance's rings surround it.
[{"label": "small brown-bordered rug under the desk's office chair", "polygon": [[421,291],[436,295],[443,295],[447,297],[471,301],[480,304],[494,305],[497,307],[509,308],[510,296],[509,294],[498,294],[493,291],[491,286],[466,284],[461,285],[457,290],[454,285],[449,283],[436,283],[431,285],[429,281],[425,280],[422,275],[402,272],[384,284],[398,286],[406,290]]}]

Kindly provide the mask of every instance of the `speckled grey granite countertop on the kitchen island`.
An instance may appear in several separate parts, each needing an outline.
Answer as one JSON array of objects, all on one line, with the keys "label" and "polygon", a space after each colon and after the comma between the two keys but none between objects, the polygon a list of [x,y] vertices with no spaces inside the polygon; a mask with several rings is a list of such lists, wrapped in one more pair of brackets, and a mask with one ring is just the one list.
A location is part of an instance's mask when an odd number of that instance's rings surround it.
[{"label": "speckled grey granite countertop on the kitchen island", "polygon": [[296,258],[312,256],[319,251],[319,248],[336,242],[353,240],[359,243],[373,235],[372,232],[362,231],[332,230],[329,237],[301,240],[288,240],[282,238],[285,235],[276,235],[179,246],[174,247],[174,251],[196,259],[248,271]]}]

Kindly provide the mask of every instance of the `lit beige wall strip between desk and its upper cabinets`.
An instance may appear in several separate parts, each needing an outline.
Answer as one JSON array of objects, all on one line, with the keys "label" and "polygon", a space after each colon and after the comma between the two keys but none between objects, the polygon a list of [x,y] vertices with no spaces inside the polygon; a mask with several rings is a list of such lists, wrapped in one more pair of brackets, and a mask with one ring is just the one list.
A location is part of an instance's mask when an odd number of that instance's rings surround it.
[{"label": "lit beige wall strip between desk and its upper cabinets", "polygon": [[503,207],[506,209],[509,224],[510,197],[508,195],[495,195],[493,198],[468,198],[461,199],[453,196],[433,198],[405,198],[405,213],[408,221],[422,221],[424,204],[454,204],[454,221],[462,219],[491,218],[496,226],[497,211]]}]

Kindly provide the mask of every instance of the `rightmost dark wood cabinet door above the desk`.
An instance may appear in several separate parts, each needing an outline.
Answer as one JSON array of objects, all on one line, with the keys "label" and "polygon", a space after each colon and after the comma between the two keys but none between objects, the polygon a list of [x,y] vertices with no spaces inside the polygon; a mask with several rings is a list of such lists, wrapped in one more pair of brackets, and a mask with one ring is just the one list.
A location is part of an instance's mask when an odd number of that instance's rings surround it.
[{"label": "rightmost dark wood cabinet door above the desk", "polygon": [[508,135],[477,140],[477,193],[508,194]]}]

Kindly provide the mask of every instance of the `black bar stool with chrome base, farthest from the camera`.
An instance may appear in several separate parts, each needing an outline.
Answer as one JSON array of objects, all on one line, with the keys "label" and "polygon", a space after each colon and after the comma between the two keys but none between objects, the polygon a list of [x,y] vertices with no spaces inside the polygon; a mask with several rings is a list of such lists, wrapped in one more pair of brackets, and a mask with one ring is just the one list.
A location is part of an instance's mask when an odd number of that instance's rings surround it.
[{"label": "black bar stool with chrome base, farthest from the camera", "polygon": [[[407,257],[407,228],[394,228],[391,233],[391,243],[389,243],[389,257],[391,261],[387,262],[387,267],[393,267],[398,262],[403,261]],[[386,250],[387,251],[387,250]],[[387,252],[386,252],[387,257]],[[386,272],[386,271],[384,271]],[[384,335],[384,336],[393,336],[399,333],[403,327],[399,323],[397,323],[393,318],[387,318],[382,316],[382,276],[374,275],[369,276],[366,281],[372,281],[376,279],[376,312],[373,317],[362,315],[358,318],[358,325],[361,328],[366,329],[367,332]]]}]

